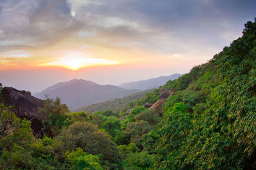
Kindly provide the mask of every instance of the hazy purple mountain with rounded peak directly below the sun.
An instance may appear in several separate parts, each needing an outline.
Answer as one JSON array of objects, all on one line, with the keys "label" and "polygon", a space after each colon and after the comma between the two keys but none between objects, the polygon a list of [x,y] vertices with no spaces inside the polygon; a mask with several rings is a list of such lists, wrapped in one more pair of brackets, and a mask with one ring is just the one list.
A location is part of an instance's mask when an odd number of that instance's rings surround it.
[{"label": "hazy purple mountain with rounded peak directly below the sun", "polygon": [[42,92],[36,92],[34,96],[39,99],[45,99],[45,95],[52,98],[60,97],[70,110],[74,110],[89,104],[129,96],[135,92],[138,90],[127,90],[113,85],[99,85],[92,81],[74,79],[52,85]]}]

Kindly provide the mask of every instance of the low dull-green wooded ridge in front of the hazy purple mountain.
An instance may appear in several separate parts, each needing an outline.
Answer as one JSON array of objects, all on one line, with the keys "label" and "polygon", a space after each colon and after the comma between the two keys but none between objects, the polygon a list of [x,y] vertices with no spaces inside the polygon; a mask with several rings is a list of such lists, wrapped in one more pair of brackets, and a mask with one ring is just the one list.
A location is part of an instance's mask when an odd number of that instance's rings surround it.
[{"label": "low dull-green wooded ridge in front of the hazy purple mountain", "polygon": [[84,106],[74,111],[87,111],[89,113],[94,113],[95,111],[99,111],[99,110],[100,111],[113,110],[115,112],[120,112],[122,110],[128,109],[129,106],[132,105],[133,101],[140,99],[141,97],[145,96],[145,94],[151,91],[152,90],[145,90],[142,92],[137,92],[123,98],[108,100],[102,103],[95,103],[89,106]]}]

